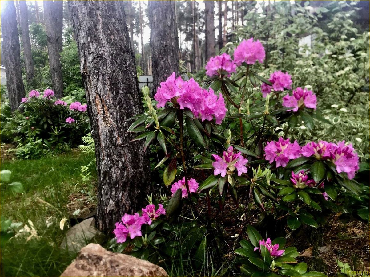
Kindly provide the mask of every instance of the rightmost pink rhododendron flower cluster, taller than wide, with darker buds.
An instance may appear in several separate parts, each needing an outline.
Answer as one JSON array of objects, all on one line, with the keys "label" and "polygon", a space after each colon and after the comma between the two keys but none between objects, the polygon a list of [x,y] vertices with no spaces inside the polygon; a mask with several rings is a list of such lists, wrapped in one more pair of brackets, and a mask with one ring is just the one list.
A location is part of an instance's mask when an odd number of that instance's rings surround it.
[{"label": "rightmost pink rhododendron flower cluster, taller than wide, with darker buds", "polygon": [[336,165],[337,172],[346,172],[348,179],[353,179],[355,172],[359,170],[359,156],[352,144],[345,145],[344,140],[332,144],[330,159]]}]

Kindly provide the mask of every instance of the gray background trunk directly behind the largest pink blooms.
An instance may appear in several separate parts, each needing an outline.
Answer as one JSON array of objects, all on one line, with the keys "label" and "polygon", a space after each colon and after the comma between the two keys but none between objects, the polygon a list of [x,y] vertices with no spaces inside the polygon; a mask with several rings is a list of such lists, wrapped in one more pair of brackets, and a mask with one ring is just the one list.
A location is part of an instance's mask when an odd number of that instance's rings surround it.
[{"label": "gray background trunk directly behind the largest pink blooms", "polygon": [[148,1],[152,75],[155,94],[159,83],[179,72],[179,43],[172,1]]}]

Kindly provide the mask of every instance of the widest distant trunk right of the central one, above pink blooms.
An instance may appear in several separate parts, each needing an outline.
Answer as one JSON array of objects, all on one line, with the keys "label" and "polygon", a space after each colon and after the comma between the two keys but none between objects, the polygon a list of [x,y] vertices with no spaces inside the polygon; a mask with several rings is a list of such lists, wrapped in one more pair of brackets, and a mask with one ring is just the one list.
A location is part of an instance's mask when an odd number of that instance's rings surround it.
[{"label": "widest distant trunk right of the central one, above pink blooms", "polygon": [[215,1],[204,1],[205,4],[205,59],[216,55],[216,38],[215,38]]}]

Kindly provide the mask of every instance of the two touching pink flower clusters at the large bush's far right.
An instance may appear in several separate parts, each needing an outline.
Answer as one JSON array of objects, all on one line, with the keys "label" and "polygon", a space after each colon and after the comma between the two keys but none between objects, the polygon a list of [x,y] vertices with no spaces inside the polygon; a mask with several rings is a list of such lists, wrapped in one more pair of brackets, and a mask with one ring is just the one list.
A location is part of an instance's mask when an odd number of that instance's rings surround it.
[{"label": "two touching pink flower clusters at the large bush's far right", "polygon": [[329,160],[336,165],[338,173],[346,172],[348,179],[353,179],[357,170],[359,170],[359,156],[354,151],[352,144],[328,143],[311,141],[302,147],[302,155],[305,157],[314,156],[317,160]]}]

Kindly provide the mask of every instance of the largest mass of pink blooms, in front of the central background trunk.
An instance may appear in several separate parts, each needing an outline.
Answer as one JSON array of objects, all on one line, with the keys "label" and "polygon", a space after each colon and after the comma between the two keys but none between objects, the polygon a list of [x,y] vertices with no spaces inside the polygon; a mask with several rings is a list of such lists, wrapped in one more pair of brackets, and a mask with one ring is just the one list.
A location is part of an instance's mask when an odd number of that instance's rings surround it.
[{"label": "largest mass of pink blooms, in front of the central background trunk", "polygon": [[171,101],[178,104],[180,109],[190,109],[203,121],[215,117],[216,123],[221,124],[226,115],[225,100],[221,93],[217,96],[211,88],[202,89],[193,78],[189,81],[182,80],[181,76],[176,78],[175,72],[165,82],[161,82],[154,99],[158,101],[157,108]]}]

